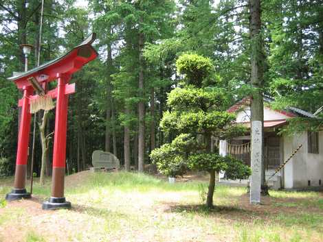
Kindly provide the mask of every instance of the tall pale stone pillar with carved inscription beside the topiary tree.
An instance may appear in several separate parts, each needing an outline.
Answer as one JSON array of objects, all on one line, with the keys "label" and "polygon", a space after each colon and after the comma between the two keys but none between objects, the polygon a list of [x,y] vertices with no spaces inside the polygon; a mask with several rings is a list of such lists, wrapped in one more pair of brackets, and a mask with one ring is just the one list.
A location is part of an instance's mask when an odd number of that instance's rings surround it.
[{"label": "tall pale stone pillar with carved inscription beside the topiary tree", "polygon": [[252,154],[250,179],[250,204],[260,203],[261,160],[263,157],[263,123],[252,121]]}]

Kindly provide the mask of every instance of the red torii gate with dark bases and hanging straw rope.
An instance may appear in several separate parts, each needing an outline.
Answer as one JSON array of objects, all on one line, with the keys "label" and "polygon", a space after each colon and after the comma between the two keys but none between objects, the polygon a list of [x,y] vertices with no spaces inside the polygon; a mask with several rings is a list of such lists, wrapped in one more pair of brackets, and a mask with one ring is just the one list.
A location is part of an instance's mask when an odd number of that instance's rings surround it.
[{"label": "red torii gate with dark bases and hanging straw rope", "polygon": [[43,209],[69,208],[70,202],[66,202],[64,197],[65,159],[66,159],[66,134],[67,134],[67,107],[68,96],[75,92],[75,84],[69,84],[71,75],[80,70],[82,66],[94,60],[98,53],[91,46],[96,39],[96,34],[91,34],[80,45],[71,49],[64,56],[49,61],[30,71],[9,77],[17,88],[23,90],[23,98],[19,100],[21,109],[21,124],[19,127],[18,147],[16,154],[16,171],[14,174],[14,189],[5,197],[8,201],[30,198],[30,193],[25,189],[27,173],[27,156],[30,134],[30,101],[37,99],[38,95],[33,95],[34,88],[30,78],[34,77],[41,86],[48,82],[57,80],[57,88],[49,90],[47,95],[56,100],[56,117],[54,132],[54,153],[53,153],[53,175],[52,175],[52,195],[49,201],[43,203]]}]

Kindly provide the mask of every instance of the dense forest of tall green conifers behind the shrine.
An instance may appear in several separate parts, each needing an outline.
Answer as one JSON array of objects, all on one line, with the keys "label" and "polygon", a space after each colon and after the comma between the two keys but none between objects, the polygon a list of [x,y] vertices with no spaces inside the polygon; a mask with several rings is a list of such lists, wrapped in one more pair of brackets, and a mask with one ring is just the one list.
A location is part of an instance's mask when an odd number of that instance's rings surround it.
[{"label": "dense forest of tall green conifers behind the shrine", "polygon": [[[44,63],[91,32],[98,36],[93,46],[99,58],[72,77],[76,93],[69,97],[69,173],[87,169],[96,149],[115,154],[126,170],[144,171],[151,151],[177,136],[164,133],[159,122],[168,110],[168,93],[183,80],[175,67],[183,53],[212,60],[214,88],[230,97],[222,104],[226,108],[247,95],[263,94],[276,100],[275,108],[295,106],[313,113],[323,105],[321,0],[266,0],[258,10],[253,8],[257,1],[248,0],[89,0],[87,8],[76,7],[77,2],[45,0],[39,43],[41,1],[0,1],[0,176],[14,172],[21,93],[6,78],[23,71],[21,44],[34,46],[32,68],[39,45]],[[49,112],[45,134],[54,130],[54,112]],[[37,123],[42,117],[38,112]],[[307,124],[302,128],[318,128],[320,119]],[[47,176],[51,151],[52,142]],[[38,126],[35,152],[39,176]]]}]

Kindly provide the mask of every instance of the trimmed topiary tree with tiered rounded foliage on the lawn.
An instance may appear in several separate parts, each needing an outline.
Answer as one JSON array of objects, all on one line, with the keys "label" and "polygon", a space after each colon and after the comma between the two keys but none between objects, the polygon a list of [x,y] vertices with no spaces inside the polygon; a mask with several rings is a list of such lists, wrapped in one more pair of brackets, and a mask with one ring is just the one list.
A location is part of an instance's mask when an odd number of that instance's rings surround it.
[{"label": "trimmed topiary tree with tiered rounded foliage on the lawn", "polygon": [[225,112],[227,95],[223,88],[214,88],[216,75],[209,58],[183,54],[176,62],[177,72],[183,75],[180,87],[168,95],[170,111],[164,112],[161,129],[178,135],[170,144],[155,149],[151,159],[159,171],[185,164],[190,169],[208,171],[210,184],[206,205],[213,206],[215,172],[225,171],[228,179],[247,178],[251,171],[240,160],[212,153],[211,138],[230,137],[245,129],[234,125],[234,114]]}]

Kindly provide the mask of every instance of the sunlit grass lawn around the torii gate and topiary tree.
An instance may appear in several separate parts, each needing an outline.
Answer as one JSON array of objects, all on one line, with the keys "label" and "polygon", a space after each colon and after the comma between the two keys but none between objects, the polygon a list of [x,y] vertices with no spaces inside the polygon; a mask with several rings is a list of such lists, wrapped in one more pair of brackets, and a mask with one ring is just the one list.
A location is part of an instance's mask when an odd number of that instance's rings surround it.
[{"label": "sunlit grass lawn around the torii gate and topiary tree", "polygon": [[36,182],[33,199],[7,203],[12,178],[0,178],[0,241],[323,241],[323,193],[271,191],[249,206],[245,188],[216,186],[208,210],[202,181],[85,171],[65,185],[73,208],[43,211],[50,180]]}]

